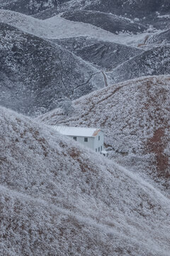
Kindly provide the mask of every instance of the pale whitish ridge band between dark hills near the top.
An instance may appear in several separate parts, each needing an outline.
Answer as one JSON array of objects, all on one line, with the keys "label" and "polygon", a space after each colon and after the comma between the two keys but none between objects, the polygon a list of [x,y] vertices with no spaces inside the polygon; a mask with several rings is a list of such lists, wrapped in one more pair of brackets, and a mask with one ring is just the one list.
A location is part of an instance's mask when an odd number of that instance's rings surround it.
[{"label": "pale whitish ridge band between dark hills near the top", "polygon": [[133,35],[130,33],[119,33],[118,35],[115,35],[88,23],[69,21],[62,18],[60,15],[47,18],[45,21],[40,21],[38,18],[6,10],[0,10],[0,22],[15,26],[34,36],[48,39],[89,36],[90,38],[97,38],[102,41],[121,44],[128,43],[137,46],[138,43],[145,40],[145,37],[148,34],[145,32],[140,35]]}]

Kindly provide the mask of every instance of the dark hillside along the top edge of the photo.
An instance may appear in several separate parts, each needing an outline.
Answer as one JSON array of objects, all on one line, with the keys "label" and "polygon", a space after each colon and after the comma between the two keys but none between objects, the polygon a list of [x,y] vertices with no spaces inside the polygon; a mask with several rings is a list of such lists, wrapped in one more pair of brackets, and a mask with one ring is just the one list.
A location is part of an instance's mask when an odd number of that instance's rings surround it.
[{"label": "dark hillside along the top edge of the photo", "polygon": [[[40,12],[37,18],[50,18],[64,11],[90,10],[111,13],[127,18],[140,18],[143,23],[157,21],[157,12],[160,15],[169,14],[170,4],[167,0],[72,0]],[[160,26],[157,23],[157,26]]]}]

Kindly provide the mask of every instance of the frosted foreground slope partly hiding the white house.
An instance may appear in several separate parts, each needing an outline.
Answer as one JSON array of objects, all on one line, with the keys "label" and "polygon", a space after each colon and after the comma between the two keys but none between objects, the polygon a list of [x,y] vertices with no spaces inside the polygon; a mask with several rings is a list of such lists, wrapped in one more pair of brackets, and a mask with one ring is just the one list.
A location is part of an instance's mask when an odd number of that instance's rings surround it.
[{"label": "frosted foreground slope partly hiding the white house", "polygon": [[162,193],[5,108],[0,124],[2,254],[169,255]]}]

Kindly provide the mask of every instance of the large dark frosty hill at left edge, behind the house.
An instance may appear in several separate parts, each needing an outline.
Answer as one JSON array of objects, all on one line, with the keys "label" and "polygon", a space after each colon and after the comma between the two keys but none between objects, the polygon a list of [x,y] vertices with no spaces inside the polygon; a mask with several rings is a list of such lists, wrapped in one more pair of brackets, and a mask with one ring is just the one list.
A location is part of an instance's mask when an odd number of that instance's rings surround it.
[{"label": "large dark frosty hill at left edge, behind the house", "polygon": [[90,64],[41,38],[0,24],[0,104],[25,114],[47,112],[104,86]]}]

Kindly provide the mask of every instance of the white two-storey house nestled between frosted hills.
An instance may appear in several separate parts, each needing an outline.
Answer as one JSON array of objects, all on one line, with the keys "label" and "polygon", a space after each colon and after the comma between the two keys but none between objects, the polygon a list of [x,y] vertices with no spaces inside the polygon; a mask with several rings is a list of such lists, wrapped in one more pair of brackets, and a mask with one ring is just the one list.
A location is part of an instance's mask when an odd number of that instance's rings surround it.
[{"label": "white two-storey house nestled between frosted hills", "polygon": [[53,128],[57,132],[60,132],[60,134],[66,135],[67,137],[84,144],[84,146],[89,147],[89,149],[101,153],[103,151],[104,134],[101,129],[63,126],[53,126]]}]

